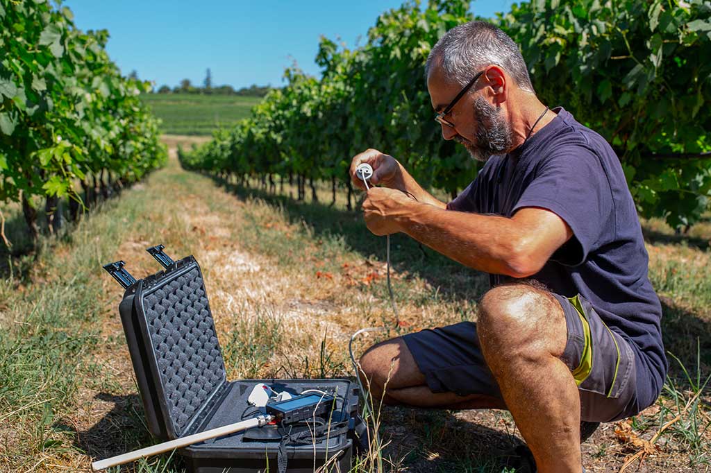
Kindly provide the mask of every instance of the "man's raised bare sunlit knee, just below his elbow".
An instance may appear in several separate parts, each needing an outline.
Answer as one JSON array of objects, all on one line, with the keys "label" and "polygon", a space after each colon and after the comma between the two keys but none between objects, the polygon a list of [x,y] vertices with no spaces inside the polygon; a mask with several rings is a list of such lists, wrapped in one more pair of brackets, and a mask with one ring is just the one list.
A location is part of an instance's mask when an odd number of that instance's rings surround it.
[{"label": "man's raised bare sunlit knee, just below his elbow", "polygon": [[490,356],[562,353],[566,330],[560,303],[540,288],[527,284],[497,286],[479,303],[479,342]]}]

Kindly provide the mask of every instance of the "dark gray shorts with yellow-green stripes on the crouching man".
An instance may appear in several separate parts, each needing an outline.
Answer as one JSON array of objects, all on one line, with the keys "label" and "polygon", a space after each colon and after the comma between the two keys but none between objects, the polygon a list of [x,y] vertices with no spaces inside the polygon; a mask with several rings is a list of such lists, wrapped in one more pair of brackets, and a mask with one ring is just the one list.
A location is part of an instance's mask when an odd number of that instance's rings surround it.
[{"label": "dark gray shorts with yellow-green stripes on the crouching man", "polygon": [[[635,357],[629,342],[609,330],[581,295],[570,299],[553,295],[565,312],[567,343],[561,360],[578,385],[581,420],[609,422],[638,413]],[[422,330],[402,339],[432,392],[501,399],[474,322]]]}]

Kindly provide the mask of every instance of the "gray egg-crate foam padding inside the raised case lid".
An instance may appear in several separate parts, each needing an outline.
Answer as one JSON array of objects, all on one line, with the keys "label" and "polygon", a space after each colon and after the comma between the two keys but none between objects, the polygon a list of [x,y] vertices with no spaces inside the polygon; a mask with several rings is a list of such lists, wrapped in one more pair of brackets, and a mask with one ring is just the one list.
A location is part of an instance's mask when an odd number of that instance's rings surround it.
[{"label": "gray egg-crate foam padding inside the raised case lid", "polygon": [[144,297],[147,327],[176,435],[225,381],[225,362],[197,267]]}]

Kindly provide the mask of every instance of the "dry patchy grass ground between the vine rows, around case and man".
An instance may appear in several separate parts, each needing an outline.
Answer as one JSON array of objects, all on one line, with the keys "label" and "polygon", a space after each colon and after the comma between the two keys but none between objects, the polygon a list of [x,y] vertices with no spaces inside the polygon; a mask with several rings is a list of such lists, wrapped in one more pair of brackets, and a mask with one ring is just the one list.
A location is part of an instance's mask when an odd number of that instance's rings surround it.
[{"label": "dry patchy grass ground between the vine rows, around case and man", "polygon": [[[319,193],[325,198],[328,187]],[[22,246],[18,210],[2,210]],[[650,472],[704,471],[711,461],[711,224],[697,224],[689,237],[657,221],[643,226],[673,354],[670,377],[654,406],[600,428],[583,445],[584,462],[593,471],[616,471],[626,460],[634,460],[627,471],[638,462]],[[201,263],[229,379],[351,376],[350,335],[392,322],[385,240],[345,210],[342,193],[333,207],[295,202],[186,173],[173,158],[68,232],[43,238],[37,251],[3,255],[0,472],[88,472],[91,457],[153,441],[118,320],[122,290],[101,264],[124,259],[134,276],[154,273],[144,248],[158,243]],[[391,256],[402,327],[390,335],[476,318],[486,277],[399,235]],[[358,339],[356,352],[385,336]],[[506,457],[521,444],[506,412],[383,408],[377,422],[384,447],[375,453],[385,469],[525,471]],[[371,455],[354,469],[375,471],[377,462]],[[183,465],[164,455],[124,471],[177,473]]]}]

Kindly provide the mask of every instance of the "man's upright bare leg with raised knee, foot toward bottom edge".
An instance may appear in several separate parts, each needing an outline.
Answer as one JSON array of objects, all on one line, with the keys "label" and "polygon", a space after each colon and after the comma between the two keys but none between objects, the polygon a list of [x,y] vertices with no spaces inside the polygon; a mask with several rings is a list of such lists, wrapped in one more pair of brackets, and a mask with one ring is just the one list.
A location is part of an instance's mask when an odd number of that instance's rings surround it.
[{"label": "man's upright bare leg with raised knee, foot toward bottom edge", "polygon": [[538,471],[580,472],[580,399],[560,360],[567,327],[550,293],[525,285],[484,295],[479,342]]}]

